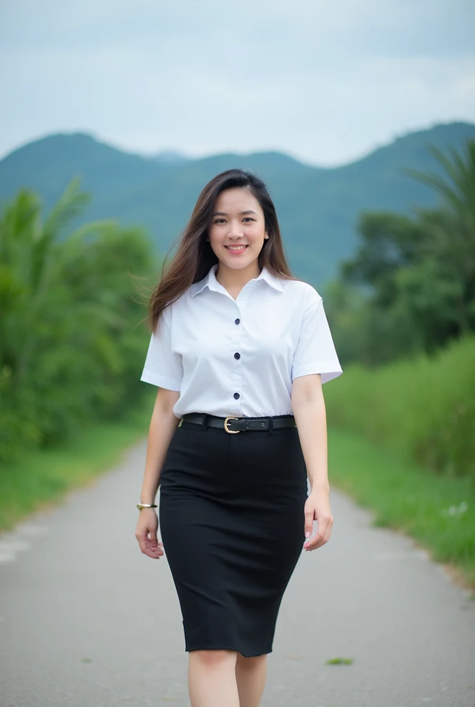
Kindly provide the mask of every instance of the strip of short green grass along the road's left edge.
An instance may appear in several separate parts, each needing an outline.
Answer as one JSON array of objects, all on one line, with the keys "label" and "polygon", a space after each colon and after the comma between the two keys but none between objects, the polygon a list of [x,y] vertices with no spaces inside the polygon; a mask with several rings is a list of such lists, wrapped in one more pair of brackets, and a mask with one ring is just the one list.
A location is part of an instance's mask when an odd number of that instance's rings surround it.
[{"label": "strip of short green grass along the road's left edge", "polygon": [[59,501],[107,472],[122,454],[148,433],[156,393],[142,399],[123,419],[95,422],[49,450],[25,452],[0,474],[0,530],[11,530],[29,513]]}]

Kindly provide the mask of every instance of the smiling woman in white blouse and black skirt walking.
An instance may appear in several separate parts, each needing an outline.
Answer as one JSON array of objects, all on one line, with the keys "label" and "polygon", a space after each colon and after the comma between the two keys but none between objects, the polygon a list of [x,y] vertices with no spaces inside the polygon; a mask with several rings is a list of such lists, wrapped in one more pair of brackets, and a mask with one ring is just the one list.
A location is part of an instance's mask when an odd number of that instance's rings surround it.
[{"label": "smiling woman in white blouse and black skirt walking", "polygon": [[150,325],[141,380],[158,392],[136,538],[149,557],[166,550],[192,706],[257,707],[288,580],[332,531],[322,382],[341,373],[262,180],[235,169],[204,187]]}]

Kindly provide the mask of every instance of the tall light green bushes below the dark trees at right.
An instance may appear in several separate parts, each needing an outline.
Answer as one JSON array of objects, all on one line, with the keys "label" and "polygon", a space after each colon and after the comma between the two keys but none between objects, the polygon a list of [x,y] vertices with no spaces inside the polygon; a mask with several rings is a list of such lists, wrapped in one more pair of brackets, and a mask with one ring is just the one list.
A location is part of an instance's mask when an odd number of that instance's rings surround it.
[{"label": "tall light green bushes below the dark trees at right", "polygon": [[330,425],[435,472],[475,479],[475,337],[380,368],[352,364],[325,401]]}]

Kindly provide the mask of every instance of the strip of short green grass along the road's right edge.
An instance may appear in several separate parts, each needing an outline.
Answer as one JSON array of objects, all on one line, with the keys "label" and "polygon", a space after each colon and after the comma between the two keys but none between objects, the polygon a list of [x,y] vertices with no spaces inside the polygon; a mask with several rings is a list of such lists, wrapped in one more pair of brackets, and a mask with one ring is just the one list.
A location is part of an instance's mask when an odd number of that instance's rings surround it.
[{"label": "strip of short green grass along the road's right edge", "polygon": [[475,481],[418,467],[355,433],[329,429],[330,484],[375,512],[374,525],[411,535],[461,574],[475,597]]}]

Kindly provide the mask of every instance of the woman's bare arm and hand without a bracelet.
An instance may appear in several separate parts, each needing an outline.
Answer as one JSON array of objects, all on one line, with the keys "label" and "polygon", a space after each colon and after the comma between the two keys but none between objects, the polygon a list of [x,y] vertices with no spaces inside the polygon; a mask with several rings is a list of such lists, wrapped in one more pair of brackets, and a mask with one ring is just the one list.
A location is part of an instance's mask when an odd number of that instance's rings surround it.
[{"label": "woman's bare arm and hand without a bracelet", "polygon": [[[334,518],[329,501],[327,472],[327,415],[319,373],[301,375],[292,384],[292,411],[300,438],[310,482],[310,494],[305,502],[305,551],[316,550],[328,542]],[[317,534],[311,540],[313,521]]]}]

